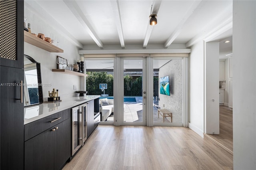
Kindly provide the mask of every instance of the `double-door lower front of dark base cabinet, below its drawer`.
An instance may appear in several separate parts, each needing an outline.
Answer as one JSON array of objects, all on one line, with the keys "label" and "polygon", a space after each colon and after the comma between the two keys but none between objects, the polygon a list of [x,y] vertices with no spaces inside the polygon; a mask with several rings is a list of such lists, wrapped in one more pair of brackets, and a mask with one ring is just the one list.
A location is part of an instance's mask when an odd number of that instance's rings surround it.
[{"label": "double-door lower front of dark base cabinet, below its drawer", "polygon": [[70,119],[54,127],[24,142],[25,170],[60,170],[70,158]]}]

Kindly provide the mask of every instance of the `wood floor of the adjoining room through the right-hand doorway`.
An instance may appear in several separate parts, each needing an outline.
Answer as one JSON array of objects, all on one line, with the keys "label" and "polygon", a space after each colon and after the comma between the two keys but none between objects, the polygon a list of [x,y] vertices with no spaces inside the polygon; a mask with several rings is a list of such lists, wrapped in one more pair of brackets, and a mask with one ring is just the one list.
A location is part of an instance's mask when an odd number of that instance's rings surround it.
[{"label": "wood floor of the adjoining room through the right-hand doorway", "polygon": [[233,152],[233,111],[220,106],[220,134],[208,134],[211,138]]}]

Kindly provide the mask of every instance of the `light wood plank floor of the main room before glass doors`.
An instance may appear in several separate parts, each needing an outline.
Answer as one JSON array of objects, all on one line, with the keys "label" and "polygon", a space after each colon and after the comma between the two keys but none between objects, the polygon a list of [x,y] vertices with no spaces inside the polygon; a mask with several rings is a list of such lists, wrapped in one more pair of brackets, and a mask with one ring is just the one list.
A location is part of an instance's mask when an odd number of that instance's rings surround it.
[{"label": "light wood plank floor of the main room before glass doors", "polygon": [[185,127],[99,125],[63,170],[228,170],[233,156]]}]

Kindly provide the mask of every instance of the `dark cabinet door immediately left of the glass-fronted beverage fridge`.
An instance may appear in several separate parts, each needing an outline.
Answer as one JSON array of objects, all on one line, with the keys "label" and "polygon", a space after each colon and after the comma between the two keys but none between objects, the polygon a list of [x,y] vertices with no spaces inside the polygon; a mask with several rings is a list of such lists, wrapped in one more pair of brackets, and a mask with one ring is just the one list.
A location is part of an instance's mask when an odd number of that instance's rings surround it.
[{"label": "dark cabinet door immediately left of the glass-fronted beverage fridge", "polygon": [[59,170],[71,156],[71,120],[59,123],[54,131],[54,169]]}]

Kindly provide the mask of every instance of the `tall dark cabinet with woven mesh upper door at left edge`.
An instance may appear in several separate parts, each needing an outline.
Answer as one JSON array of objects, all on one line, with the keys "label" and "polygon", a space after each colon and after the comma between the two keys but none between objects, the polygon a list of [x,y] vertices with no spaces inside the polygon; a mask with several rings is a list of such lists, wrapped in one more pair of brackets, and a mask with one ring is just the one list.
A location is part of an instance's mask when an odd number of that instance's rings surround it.
[{"label": "tall dark cabinet with woven mesh upper door at left edge", "polygon": [[0,169],[24,169],[24,1],[0,1]]}]

